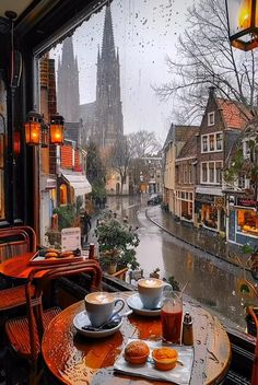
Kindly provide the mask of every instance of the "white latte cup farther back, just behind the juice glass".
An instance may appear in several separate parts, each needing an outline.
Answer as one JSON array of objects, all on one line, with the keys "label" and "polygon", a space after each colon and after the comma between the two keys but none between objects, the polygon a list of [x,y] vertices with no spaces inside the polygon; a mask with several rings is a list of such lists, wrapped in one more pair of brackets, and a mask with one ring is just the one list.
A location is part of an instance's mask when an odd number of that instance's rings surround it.
[{"label": "white latte cup farther back, just behind the juice glass", "polygon": [[157,278],[142,278],[138,281],[138,292],[141,302],[146,308],[157,308],[161,306],[162,293],[164,287],[171,287]]}]

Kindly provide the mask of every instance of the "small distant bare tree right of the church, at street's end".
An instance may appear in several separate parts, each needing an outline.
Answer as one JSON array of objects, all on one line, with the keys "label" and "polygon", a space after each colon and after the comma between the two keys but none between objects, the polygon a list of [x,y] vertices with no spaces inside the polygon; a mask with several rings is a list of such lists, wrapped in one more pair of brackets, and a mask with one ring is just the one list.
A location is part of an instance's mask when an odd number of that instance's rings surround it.
[{"label": "small distant bare tree right of the church, at street's end", "polygon": [[155,138],[155,132],[141,130],[128,136],[128,145],[131,158],[150,156],[161,151],[161,143]]}]

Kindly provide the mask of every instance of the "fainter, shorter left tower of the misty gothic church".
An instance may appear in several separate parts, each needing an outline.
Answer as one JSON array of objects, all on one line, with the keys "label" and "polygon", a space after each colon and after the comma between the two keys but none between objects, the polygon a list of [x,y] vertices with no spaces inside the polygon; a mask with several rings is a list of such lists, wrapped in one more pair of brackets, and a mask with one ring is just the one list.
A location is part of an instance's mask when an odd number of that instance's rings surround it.
[{"label": "fainter, shorter left tower of the misty gothic church", "polygon": [[57,91],[58,113],[64,117],[64,121],[79,121],[79,71],[72,37],[63,40],[61,61],[58,62]]}]

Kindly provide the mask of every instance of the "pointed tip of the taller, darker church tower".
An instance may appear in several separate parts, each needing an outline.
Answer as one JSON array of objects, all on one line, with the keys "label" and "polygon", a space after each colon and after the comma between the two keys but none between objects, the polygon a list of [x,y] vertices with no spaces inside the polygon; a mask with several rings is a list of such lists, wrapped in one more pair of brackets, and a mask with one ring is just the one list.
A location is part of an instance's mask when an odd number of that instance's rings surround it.
[{"label": "pointed tip of the taller, darker church tower", "polygon": [[110,5],[106,7],[104,32],[102,40],[102,58],[106,60],[114,60],[116,57],[113,22],[112,22],[112,11]]}]

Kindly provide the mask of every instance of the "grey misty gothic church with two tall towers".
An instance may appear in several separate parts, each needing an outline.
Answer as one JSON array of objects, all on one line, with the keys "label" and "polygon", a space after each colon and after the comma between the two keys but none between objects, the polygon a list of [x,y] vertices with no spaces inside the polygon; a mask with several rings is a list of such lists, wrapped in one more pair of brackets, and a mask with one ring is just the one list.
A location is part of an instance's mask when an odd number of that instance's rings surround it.
[{"label": "grey misty gothic church with two tall towers", "polygon": [[124,135],[120,65],[110,5],[106,7],[102,50],[97,52],[96,101],[79,105],[79,72],[71,37],[63,42],[62,61],[58,66],[58,100],[59,112],[66,121],[82,119],[83,144],[94,141],[101,149],[106,149]]}]

